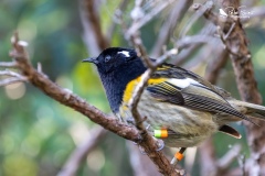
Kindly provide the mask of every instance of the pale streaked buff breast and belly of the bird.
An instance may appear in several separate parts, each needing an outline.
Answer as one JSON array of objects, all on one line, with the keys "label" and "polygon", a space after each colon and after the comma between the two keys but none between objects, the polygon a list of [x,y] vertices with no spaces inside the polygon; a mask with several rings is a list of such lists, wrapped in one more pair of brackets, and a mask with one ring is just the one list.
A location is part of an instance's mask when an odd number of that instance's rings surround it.
[{"label": "pale streaked buff breast and belly of the bird", "polygon": [[[120,109],[120,114],[125,119],[131,118],[126,107]],[[147,123],[152,129],[168,129],[174,132],[165,140],[166,145],[172,147],[195,146],[219,129],[212,113],[158,101],[148,91],[144,91],[138,110],[147,118]]]}]

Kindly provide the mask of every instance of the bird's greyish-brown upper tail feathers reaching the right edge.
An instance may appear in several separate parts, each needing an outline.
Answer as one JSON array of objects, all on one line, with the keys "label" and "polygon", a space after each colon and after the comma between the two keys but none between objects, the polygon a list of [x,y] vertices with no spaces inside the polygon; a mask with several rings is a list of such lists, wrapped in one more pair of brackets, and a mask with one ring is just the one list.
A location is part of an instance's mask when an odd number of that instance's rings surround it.
[{"label": "bird's greyish-brown upper tail feathers reaching the right edge", "polygon": [[239,101],[239,100],[232,100],[229,101],[234,108],[236,108],[239,111],[246,116],[251,116],[261,120],[265,120],[265,107],[250,103],[250,102],[244,102],[244,101]]}]

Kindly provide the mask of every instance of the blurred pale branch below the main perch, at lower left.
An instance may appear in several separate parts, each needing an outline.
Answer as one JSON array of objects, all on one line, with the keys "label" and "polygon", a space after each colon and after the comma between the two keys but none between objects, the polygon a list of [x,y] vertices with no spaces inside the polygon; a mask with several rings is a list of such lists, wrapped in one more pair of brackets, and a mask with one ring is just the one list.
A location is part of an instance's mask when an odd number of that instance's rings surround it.
[{"label": "blurred pale branch below the main perch, at lower left", "polygon": [[98,142],[105,136],[106,132],[106,130],[98,127],[92,129],[89,138],[75,148],[57,176],[76,175],[81,163],[86,158],[87,154],[96,147]]}]

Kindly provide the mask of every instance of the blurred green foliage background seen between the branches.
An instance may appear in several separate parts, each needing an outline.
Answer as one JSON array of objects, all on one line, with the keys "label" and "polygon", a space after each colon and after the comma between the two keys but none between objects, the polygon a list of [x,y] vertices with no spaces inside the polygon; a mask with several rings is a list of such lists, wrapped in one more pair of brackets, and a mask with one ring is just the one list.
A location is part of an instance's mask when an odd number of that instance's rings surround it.
[{"label": "blurred green foliage background seen between the branches", "polygon": [[[99,14],[104,32],[112,25],[113,14],[118,4],[118,0],[102,1]],[[253,6],[264,4],[264,1],[259,1]],[[129,19],[132,6],[134,2],[130,2],[125,19]],[[184,26],[192,13],[189,11],[178,30]],[[165,15],[156,18],[141,30],[148,51],[151,50]],[[189,34],[195,34],[204,23],[205,20],[201,18]],[[264,18],[246,25],[255,77],[265,98],[264,29]],[[11,59],[10,37],[15,30],[21,40],[29,43],[26,50],[34,66],[41,63],[43,72],[53,81],[71,89],[104,112],[109,112],[96,69],[89,64],[81,63],[89,53],[82,38],[77,1],[1,0],[0,62]],[[119,25],[112,36],[112,45],[129,46]],[[221,73],[218,85],[239,98],[230,62]],[[89,129],[94,125],[86,117],[46,97],[30,84],[0,87],[0,176],[56,175],[71,152],[89,135]],[[244,128],[236,128],[244,135]],[[234,143],[241,143],[243,154],[247,156],[245,138],[234,140],[223,134],[214,135],[218,156],[227,151],[227,144]],[[81,165],[78,175],[109,175],[109,170],[112,175],[134,175],[128,152],[125,140],[109,133]],[[197,160],[194,175],[198,169]]]}]

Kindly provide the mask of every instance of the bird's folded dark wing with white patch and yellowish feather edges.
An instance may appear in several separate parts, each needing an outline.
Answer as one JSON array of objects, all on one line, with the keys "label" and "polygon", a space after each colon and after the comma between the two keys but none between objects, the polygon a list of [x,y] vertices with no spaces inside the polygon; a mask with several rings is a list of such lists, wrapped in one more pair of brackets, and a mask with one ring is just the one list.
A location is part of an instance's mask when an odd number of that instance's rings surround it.
[{"label": "bird's folded dark wing with white patch and yellowish feather edges", "polygon": [[[182,81],[187,82],[183,84]],[[234,109],[221,95],[193,79],[169,78],[166,81],[148,86],[147,90],[159,101],[201,111],[226,113],[251,121],[246,116]]]}]

